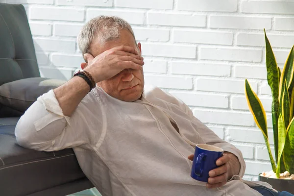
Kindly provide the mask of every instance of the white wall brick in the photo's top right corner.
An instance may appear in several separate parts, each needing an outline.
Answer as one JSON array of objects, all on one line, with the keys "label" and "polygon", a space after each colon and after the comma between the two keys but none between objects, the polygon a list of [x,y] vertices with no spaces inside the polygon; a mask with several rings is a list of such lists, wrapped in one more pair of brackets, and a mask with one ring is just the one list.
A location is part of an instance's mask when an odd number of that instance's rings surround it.
[{"label": "white wall brick in the photo's top right corner", "polygon": [[243,13],[258,14],[294,14],[294,2],[276,1],[242,1],[241,11]]}]

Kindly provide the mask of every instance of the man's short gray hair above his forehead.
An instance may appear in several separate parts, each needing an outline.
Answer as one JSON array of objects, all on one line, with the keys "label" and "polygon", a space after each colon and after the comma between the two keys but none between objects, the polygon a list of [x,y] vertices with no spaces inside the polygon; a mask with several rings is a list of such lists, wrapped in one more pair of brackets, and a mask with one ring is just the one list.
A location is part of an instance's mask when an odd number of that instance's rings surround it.
[{"label": "man's short gray hair above his forehead", "polygon": [[[100,44],[120,38],[121,30],[127,29],[135,39],[132,27],[123,19],[115,16],[99,16],[84,25],[77,37],[79,49],[83,55],[90,52],[90,46],[95,38]],[[136,41],[136,40],[135,40]]]}]

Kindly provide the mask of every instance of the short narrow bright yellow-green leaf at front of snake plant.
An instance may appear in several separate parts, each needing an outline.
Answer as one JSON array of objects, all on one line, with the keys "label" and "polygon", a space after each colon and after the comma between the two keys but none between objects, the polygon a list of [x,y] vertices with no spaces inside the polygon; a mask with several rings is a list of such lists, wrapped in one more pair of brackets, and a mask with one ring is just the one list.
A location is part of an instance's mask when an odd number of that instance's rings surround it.
[{"label": "short narrow bright yellow-green leaf at front of snake plant", "polygon": [[[279,130],[279,149],[278,149],[278,163],[276,169],[276,177],[280,178],[280,169],[281,169],[281,157],[284,151],[285,142],[286,142],[286,127],[282,117],[282,114],[279,115],[278,119],[278,130]],[[283,171],[285,172],[285,171]]]}]

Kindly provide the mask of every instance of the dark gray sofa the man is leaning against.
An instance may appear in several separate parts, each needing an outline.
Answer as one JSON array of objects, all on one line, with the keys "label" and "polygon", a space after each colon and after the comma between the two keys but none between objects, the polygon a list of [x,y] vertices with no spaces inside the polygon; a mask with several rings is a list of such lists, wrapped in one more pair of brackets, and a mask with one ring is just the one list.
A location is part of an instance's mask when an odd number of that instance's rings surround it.
[{"label": "dark gray sofa the man is leaning against", "polygon": [[[0,85],[31,77],[40,73],[24,6],[0,3]],[[10,86],[11,94],[22,92],[19,84]],[[45,152],[17,144],[14,129],[24,111],[13,101],[0,103],[0,196],[65,196],[92,188],[73,149]]]}]

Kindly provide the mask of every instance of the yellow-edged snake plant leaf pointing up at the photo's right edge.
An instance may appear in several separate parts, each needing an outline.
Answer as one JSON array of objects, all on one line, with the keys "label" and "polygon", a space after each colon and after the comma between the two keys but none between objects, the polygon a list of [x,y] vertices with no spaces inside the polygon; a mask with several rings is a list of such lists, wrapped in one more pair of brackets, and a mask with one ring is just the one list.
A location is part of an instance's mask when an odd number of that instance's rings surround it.
[{"label": "yellow-edged snake plant leaf pointing up at the photo's right edge", "polygon": [[[283,72],[282,72],[280,83],[279,83],[279,87],[280,87],[279,88],[279,95],[281,95],[281,93],[282,93],[281,87],[282,87],[285,80],[287,81],[288,88],[291,89],[293,87],[293,85],[294,85],[293,84],[294,83],[293,76],[294,76],[294,47],[292,47],[292,49],[287,57],[284,68],[283,68]],[[292,91],[290,93],[292,93]],[[281,97],[279,96],[279,100],[280,100],[280,98]]]}]

